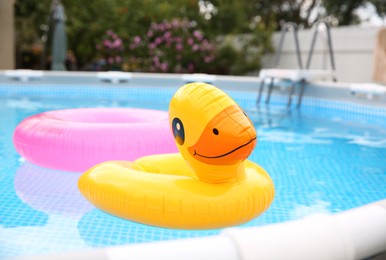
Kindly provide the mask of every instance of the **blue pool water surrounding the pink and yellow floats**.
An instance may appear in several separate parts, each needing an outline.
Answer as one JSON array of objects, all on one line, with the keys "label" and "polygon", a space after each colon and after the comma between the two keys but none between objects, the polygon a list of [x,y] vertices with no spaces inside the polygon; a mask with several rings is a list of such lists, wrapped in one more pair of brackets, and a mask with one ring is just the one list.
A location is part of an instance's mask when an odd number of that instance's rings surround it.
[{"label": "blue pool water surrounding the pink and yellow floats", "polygon": [[[122,220],[95,209],[77,190],[80,173],[21,158],[12,135],[27,116],[78,107],[167,110],[173,88],[0,85],[0,258],[218,234]],[[257,107],[255,93],[227,91],[255,123],[250,160],[271,175],[276,196],[260,226],[336,213],[386,198],[386,109],[305,99],[300,110]]]}]

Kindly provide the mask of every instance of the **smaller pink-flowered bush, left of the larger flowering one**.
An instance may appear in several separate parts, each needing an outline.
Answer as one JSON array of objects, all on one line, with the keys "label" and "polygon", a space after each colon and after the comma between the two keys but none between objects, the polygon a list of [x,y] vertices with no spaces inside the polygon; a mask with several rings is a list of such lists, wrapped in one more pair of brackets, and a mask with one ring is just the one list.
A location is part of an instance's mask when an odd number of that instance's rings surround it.
[{"label": "smaller pink-flowered bush, left of the larger flowering one", "polygon": [[108,30],[96,45],[100,54],[99,65],[103,70],[121,70],[123,63],[123,41],[112,30]]}]

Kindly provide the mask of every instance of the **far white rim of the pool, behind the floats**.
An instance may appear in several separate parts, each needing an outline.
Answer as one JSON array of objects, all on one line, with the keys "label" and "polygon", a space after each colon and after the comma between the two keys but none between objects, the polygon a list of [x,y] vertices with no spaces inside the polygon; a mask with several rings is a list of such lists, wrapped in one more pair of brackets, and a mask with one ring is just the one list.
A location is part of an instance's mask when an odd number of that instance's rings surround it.
[{"label": "far white rim of the pool, behind the floats", "polygon": [[[186,83],[202,81],[229,90],[250,91],[256,95],[260,86],[259,77],[222,76],[209,74],[168,74],[168,73],[131,73],[131,72],[57,72],[35,70],[0,70],[0,84],[77,84],[77,85],[119,85],[122,87],[169,87],[178,88]],[[320,99],[333,99],[371,106],[386,106],[386,86],[374,87],[369,84],[344,82],[310,82],[306,84],[304,96]],[[373,84],[374,85],[374,84]],[[286,101],[291,82],[278,82],[273,96],[282,96]],[[360,91],[358,92],[358,86]],[[297,99],[295,89],[293,99]],[[263,94],[267,90],[264,89]],[[264,100],[264,99],[263,99]],[[295,103],[295,102],[294,102]]]}]

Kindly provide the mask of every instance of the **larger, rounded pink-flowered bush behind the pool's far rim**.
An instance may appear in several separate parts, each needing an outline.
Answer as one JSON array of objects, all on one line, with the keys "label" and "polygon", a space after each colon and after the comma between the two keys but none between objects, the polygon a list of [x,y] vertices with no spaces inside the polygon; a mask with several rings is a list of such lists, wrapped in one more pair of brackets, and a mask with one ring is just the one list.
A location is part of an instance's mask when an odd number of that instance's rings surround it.
[{"label": "larger, rounded pink-flowered bush behind the pool's far rim", "polygon": [[130,38],[129,70],[208,72],[216,59],[213,42],[192,22],[174,19],[152,23],[144,36]]}]

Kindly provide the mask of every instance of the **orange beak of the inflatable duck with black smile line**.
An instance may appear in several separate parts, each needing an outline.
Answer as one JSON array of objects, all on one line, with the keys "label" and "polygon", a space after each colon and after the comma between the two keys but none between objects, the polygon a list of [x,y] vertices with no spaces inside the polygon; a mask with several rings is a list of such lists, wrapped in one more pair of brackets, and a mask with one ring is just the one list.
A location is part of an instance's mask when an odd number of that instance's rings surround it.
[{"label": "orange beak of the inflatable duck with black smile line", "polygon": [[252,123],[237,105],[232,105],[210,120],[199,140],[188,151],[200,162],[229,165],[248,158],[256,141]]}]

